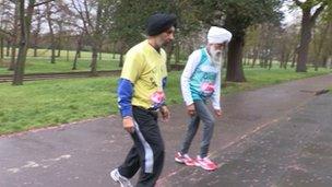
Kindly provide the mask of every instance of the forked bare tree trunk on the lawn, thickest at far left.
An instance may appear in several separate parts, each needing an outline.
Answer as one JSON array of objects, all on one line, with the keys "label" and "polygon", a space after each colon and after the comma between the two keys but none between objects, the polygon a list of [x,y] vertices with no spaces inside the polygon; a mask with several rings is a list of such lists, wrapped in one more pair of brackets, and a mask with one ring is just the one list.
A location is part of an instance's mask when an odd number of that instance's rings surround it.
[{"label": "forked bare tree trunk on the lawn, thickest at far left", "polygon": [[24,68],[25,68],[26,52],[29,40],[31,22],[34,12],[35,0],[28,1],[26,15],[24,10],[24,0],[19,1],[17,4],[20,5],[21,39],[19,46],[17,61],[14,69],[15,71],[13,78],[13,85],[23,84]]}]

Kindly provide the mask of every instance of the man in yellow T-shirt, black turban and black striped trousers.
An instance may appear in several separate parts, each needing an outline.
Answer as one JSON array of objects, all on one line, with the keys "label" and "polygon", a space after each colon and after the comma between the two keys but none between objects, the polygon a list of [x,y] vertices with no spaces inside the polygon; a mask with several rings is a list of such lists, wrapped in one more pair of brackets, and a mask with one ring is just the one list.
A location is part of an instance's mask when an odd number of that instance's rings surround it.
[{"label": "man in yellow T-shirt, black turban and black striped trousers", "polygon": [[118,85],[118,104],[123,128],[134,142],[126,161],[110,172],[121,187],[141,168],[137,186],[154,186],[164,164],[164,141],[157,113],[168,120],[164,86],[167,80],[166,52],[163,45],[174,39],[176,16],[157,13],[147,20],[147,39],[126,55]]}]

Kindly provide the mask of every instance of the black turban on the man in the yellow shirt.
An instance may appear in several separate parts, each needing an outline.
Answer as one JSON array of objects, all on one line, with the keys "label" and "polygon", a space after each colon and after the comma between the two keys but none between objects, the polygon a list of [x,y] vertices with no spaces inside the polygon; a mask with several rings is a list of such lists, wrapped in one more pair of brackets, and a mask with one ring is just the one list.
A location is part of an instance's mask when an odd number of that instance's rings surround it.
[{"label": "black turban on the man in the yellow shirt", "polygon": [[166,13],[156,13],[149,17],[146,32],[149,36],[156,36],[171,26],[176,26],[176,15]]}]

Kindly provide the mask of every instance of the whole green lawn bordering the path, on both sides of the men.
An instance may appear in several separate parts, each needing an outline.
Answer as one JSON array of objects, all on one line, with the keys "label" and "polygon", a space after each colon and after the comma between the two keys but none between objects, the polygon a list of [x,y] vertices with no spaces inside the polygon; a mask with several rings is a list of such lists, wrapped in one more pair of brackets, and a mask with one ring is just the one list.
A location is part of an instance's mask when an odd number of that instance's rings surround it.
[{"label": "whole green lawn bordering the path, on both sides of the men", "polygon": [[[294,69],[245,69],[248,82],[224,83],[222,94],[227,95],[328,72],[322,69],[318,72],[309,70],[307,73],[295,73]],[[168,75],[166,89],[168,105],[182,102],[180,73],[174,71]],[[47,80],[25,82],[22,86],[2,83],[0,84],[0,135],[117,114],[117,79],[111,77]]]}]

